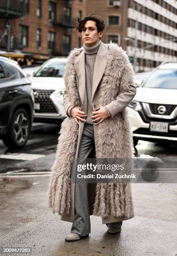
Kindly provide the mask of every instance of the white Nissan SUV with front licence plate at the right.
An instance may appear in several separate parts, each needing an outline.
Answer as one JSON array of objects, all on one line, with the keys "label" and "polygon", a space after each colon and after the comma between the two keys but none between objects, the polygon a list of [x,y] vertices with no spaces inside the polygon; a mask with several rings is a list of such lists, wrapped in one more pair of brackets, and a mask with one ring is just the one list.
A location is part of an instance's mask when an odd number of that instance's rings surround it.
[{"label": "white Nissan SUV with front licence plate at the right", "polygon": [[163,62],[144,84],[128,106],[134,133],[138,140],[177,141],[177,62]]}]

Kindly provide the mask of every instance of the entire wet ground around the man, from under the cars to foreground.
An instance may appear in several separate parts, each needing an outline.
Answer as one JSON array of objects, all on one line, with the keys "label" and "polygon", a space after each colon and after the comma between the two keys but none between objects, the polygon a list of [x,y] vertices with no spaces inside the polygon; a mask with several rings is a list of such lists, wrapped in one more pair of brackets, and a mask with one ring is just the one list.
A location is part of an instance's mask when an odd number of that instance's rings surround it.
[{"label": "entire wet ground around the man, from under the cars to foreground", "polygon": [[[0,142],[0,247],[30,247],[32,256],[177,255],[177,184],[173,183],[132,184],[135,217],[123,222],[120,234],[109,235],[101,218],[91,216],[88,238],[64,241],[71,223],[60,221],[47,207],[58,132],[58,125],[36,123],[23,149],[11,151]],[[175,159],[176,149],[140,141],[137,156]]]}]

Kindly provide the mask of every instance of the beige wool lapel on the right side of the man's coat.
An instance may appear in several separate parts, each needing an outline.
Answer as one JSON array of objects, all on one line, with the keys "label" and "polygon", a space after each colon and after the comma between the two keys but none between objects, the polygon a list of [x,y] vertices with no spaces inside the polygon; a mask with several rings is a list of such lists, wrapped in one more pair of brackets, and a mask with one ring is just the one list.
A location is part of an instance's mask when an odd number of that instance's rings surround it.
[{"label": "beige wool lapel on the right side of the man's coat", "polygon": [[96,89],[99,85],[99,82],[101,80],[101,77],[104,74],[104,70],[106,68],[107,64],[107,46],[101,42],[101,45],[99,47],[99,50],[96,54],[96,60],[95,60],[95,66],[94,66],[94,75],[93,75],[93,84],[92,84],[92,94],[91,94],[91,100],[93,101]]}]

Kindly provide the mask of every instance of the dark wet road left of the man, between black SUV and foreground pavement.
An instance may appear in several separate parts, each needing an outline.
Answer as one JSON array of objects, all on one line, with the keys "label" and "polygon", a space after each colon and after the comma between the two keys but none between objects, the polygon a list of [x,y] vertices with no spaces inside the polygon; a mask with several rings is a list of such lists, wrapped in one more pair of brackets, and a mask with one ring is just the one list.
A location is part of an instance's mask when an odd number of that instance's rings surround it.
[{"label": "dark wet road left of the man, between black SUV and foreground pavement", "polygon": [[0,173],[50,171],[59,131],[59,125],[34,123],[27,144],[20,150],[10,150],[0,141]]}]

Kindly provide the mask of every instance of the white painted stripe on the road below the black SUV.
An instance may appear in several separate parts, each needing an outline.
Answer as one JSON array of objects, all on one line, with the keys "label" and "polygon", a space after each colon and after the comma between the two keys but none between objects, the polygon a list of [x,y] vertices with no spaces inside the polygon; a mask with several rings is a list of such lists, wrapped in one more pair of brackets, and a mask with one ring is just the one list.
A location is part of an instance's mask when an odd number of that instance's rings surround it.
[{"label": "white painted stripe on the road below the black SUV", "polygon": [[14,153],[14,154],[0,154],[0,158],[3,159],[14,159],[14,160],[35,160],[40,157],[44,157],[45,155],[39,155],[39,154],[25,154],[25,153]]}]

